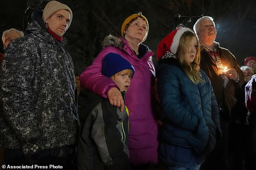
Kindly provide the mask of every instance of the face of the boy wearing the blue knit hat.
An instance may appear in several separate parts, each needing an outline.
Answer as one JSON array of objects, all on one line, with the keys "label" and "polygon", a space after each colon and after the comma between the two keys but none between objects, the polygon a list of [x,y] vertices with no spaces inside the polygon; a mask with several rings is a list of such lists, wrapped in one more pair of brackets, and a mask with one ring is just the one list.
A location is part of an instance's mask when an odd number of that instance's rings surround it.
[{"label": "face of the boy wearing the blue knit hat", "polygon": [[120,71],[120,74],[111,77],[111,79],[118,85],[120,91],[128,90],[131,82],[131,77],[127,71]]}]

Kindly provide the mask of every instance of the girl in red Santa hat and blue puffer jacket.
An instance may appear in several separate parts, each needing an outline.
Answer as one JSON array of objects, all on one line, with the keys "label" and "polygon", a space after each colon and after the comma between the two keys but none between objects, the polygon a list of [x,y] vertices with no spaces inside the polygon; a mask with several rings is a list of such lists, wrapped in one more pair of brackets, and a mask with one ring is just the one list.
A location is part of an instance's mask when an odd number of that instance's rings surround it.
[{"label": "girl in red Santa hat and blue puffer jacket", "polygon": [[189,28],[169,33],[157,46],[157,91],[165,116],[159,159],[167,170],[199,170],[221,134],[211,82],[199,68],[200,44]]}]

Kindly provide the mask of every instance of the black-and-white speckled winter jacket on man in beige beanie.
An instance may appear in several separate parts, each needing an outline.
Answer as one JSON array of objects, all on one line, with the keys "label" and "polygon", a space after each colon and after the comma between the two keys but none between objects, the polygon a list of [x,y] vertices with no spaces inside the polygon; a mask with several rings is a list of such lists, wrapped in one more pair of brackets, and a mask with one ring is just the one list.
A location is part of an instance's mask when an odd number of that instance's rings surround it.
[{"label": "black-and-white speckled winter jacket on man in beige beanie", "polygon": [[32,21],[4,54],[0,147],[21,148],[32,137],[40,139],[41,149],[76,144],[72,59],[64,50],[66,39],[58,42],[40,22]]}]

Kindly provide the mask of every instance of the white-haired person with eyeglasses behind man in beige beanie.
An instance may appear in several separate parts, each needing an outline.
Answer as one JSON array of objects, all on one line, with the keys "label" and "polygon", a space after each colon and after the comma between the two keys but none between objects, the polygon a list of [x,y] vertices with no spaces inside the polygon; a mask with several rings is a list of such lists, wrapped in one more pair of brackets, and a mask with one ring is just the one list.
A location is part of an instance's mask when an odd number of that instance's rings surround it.
[{"label": "white-haired person with eyeglasses behind man in beige beanie", "polygon": [[[19,37],[23,37],[23,35],[24,35],[23,31],[19,31],[18,29],[15,29],[15,28],[5,30],[2,35],[4,50],[10,44],[10,42],[15,41],[15,39]],[[4,58],[4,54],[0,53],[0,63],[2,62],[3,58]]]}]

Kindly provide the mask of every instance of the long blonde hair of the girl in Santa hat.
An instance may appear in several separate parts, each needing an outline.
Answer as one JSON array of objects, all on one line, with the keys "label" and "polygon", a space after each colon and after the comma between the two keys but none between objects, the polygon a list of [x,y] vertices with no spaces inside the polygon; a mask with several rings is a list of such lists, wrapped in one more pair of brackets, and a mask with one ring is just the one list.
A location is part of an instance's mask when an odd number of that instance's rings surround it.
[{"label": "long blonde hair of the girl in Santa hat", "polygon": [[[193,62],[188,63],[186,61],[186,57],[189,53],[189,47],[192,45],[191,41],[192,41],[193,37],[195,37],[197,40],[197,52],[195,54],[195,59],[193,60]],[[178,46],[178,49],[176,52],[176,57],[178,58],[180,65],[183,66],[186,75],[195,84],[204,82],[204,80],[201,78],[201,74],[199,72],[199,69],[200,69],[199,62],[200,62],[200,57],[201,57],[200,50],[201,50],[200,43],[199,43],[195,33],[191,32],[191,31],[186,31],[181,35],[180,43],[179,43],[179,46]]]}]

